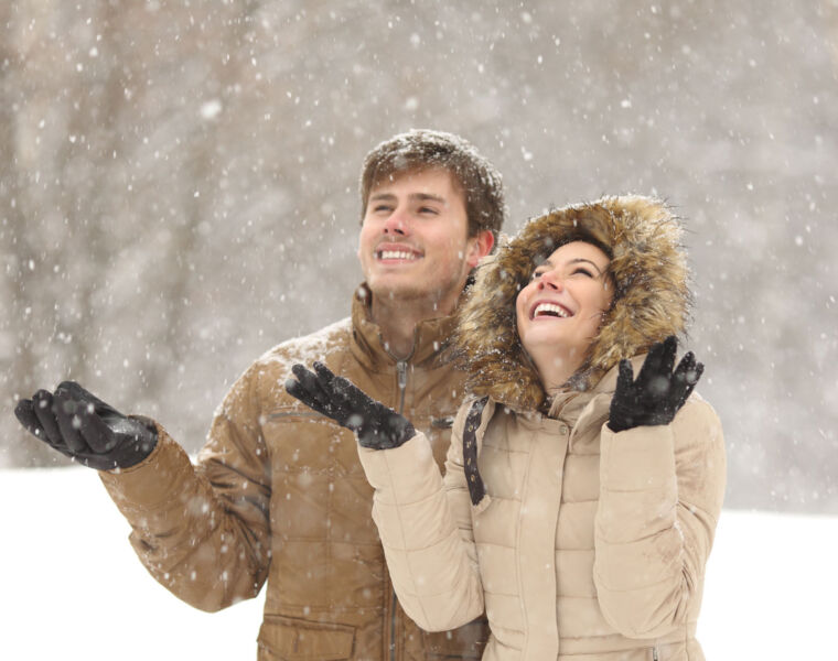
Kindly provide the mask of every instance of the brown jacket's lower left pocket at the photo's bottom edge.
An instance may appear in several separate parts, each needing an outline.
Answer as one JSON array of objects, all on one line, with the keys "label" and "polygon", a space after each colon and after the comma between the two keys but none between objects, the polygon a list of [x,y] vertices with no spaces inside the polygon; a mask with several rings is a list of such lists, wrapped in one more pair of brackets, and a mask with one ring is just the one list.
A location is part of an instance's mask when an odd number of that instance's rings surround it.
[{"label": "brown jacket's lower left pocket at the photo's bottom edge", "polygon": [[279,661],[340,661],[352,658],[355,627],[266,615],[259,629],[259,653]]}]

